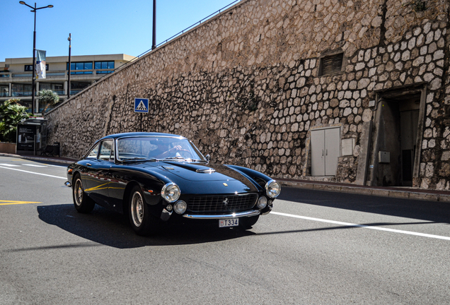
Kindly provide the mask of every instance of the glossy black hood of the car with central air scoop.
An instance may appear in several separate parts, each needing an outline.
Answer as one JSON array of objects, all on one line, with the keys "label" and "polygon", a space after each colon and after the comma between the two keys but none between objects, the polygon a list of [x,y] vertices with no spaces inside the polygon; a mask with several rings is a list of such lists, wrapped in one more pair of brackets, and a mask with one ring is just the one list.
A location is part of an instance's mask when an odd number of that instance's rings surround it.
[{"label": "glossy black hood of the car with central air scoop", "polygon": [[247,191],[258,191],[254,181],[241,172],[237,172],[226,165],[207,164],[202,162],[144,162],[140,165],[146,170],[164,174],[175,183],[181,180],[195,181],[200,186],[203,183],[217,184],[222,187],[226,184],[232,189],[246,189]]}]

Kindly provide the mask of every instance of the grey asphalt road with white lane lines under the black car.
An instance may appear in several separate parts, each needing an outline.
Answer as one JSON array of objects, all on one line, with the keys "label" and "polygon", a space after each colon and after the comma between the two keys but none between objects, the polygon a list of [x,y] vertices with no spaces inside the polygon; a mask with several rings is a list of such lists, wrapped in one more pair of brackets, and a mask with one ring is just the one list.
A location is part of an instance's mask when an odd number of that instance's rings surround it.
[{"label": "grey asphalt road with white lane lines under the black car", "polygon": [[65,166],[0,157],[2,304],[450,304],[450,206],[282,189],[246,232],[138,237]]}]

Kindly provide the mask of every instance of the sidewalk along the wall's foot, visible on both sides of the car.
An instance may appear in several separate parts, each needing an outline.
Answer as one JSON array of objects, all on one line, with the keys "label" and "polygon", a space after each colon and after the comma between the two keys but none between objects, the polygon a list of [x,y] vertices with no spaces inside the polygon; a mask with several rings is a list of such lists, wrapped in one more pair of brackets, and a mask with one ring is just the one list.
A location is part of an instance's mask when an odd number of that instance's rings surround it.
[{"label": "sidewalk along the wall's foot, visible on both sides of the car", "polygon": [[[0,152],[0,156],[18,157],[27,160],[56,162],[71,164],[78,160],[62,157],[40,157],[33,155],[13,155]],[[412,187],[385,187],[385,186],[359,186],[355,184],[342,184],[325,181],[311,181],[299,179],[277,179],[282,186],[294,187],[297,189],[312,189],[316,191],[332,191],[337,193],[356,193],[360,195],[404,198],[423,201],[442,201],[450,203],[450,191],[435,191],[427,189],[417,189]]]}]

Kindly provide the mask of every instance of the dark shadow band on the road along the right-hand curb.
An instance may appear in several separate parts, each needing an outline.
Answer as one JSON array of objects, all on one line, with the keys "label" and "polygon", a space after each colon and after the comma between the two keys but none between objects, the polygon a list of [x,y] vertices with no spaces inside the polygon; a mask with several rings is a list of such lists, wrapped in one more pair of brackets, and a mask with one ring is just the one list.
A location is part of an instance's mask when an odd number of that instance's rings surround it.
[{"label": "dark shadow band on the road along the right-hand curb", "polygon": [[278,199],[450,224],[450,203],[284,187]]}]

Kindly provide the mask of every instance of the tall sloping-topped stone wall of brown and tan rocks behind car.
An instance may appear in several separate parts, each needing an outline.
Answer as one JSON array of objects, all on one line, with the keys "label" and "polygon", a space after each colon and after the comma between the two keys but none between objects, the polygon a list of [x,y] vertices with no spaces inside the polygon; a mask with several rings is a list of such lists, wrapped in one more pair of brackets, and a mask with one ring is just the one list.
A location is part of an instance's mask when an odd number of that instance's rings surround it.
[{"label": "tall sloping-topped stone wall of brown and tan rocks behind car", "polygon": [[[79,157],[110,133],[194,140],[215,162],[272,177],[354,182],[363,124],[378,92],[425,83],[417,186],[449,189],[449,3],[426,0],[248,0],[92,85],[47,114],[49,140]],[[344,53],[340,73],[321,59]],[[134,97],[150,100],[134,113]],[[333,177],[311,177],[311,128],[354,138]],[[374,125],[376,132],[376,124]],[[369,141],[369,143],[371,143]],[[374,145],[374,143],[371,143]]]}]

